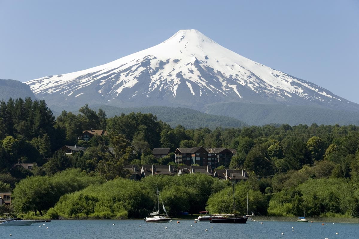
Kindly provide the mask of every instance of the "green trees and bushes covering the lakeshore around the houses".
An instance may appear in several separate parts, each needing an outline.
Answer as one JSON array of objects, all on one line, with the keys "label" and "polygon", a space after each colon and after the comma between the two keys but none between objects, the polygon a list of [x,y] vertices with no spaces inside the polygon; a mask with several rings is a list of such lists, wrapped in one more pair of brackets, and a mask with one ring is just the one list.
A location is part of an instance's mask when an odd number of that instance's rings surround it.
[{"label": "green trees and bushes covering the lakeshore around the houses", "polygon": [[[55,119],[45,101],[0,102],[0,192],[12,192],[1,214],[47,218],[144,218],[155,187],[171,216],[231,213],[231,184],[202,174],[129,179],[127,164],[172,164],[173,153],[155,158],[153,148],[234,148],[221,168],[245,169],[235,186],[239,214],[248,207],[263,216],[359,217],[359,129],[355,125],[264,125],[241,128],[171,127],[151,113],[108,118],[84,105]],[[83,130],[105,136],[79,140]],[[72,155],[64,145],[86,147]],[[109,147],[113,148],[112,153]],[[14,167],[34,163],[29,170]]]}]

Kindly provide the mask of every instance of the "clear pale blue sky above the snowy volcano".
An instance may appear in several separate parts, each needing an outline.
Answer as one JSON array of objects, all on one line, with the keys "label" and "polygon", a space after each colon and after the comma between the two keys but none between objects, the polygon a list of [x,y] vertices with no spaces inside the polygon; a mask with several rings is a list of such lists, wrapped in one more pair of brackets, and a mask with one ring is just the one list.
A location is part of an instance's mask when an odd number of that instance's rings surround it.
[{"label": "clear pale blue sky above the snowy volcano", "polygon": [[358,0],[0,0],[0,78],[84,70],[180,29],[359,103]]}]

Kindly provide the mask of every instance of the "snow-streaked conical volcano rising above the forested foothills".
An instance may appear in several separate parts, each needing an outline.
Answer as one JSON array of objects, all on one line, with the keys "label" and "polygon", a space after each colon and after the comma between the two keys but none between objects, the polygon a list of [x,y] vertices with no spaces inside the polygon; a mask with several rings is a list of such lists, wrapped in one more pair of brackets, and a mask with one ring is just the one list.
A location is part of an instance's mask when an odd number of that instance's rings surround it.
[{"label": "snow-streaked conical volcano rising above the forested foothills", "polygon": [[26,82],[47,105],[185,106],[225,102],[358,105],[311,82],[251,61],[197,30],[87,70]]}]

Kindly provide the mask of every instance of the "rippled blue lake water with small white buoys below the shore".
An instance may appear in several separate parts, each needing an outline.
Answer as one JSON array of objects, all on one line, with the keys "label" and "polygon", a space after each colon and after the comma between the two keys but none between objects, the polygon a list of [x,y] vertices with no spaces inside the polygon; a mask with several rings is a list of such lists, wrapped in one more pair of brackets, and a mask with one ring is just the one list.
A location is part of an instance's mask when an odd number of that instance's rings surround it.
[{"label": "rippled blue lake water with small white buoys below the shore", "polygon": [[1,238],[11,239],[359,238],[359,224],[351,223],[322,225],[319,222],[282,221],[263,221],[263,224],[258,221],[247,221],[246,224],[212,224],[207,221],[195,223],[194,220],[179,220],[179,222],[177,223],[177,220],[168,223],[145,223],[143,220],[52,220],[51,223],[34,223],[30,226],[1,226],[0,235]]}]

